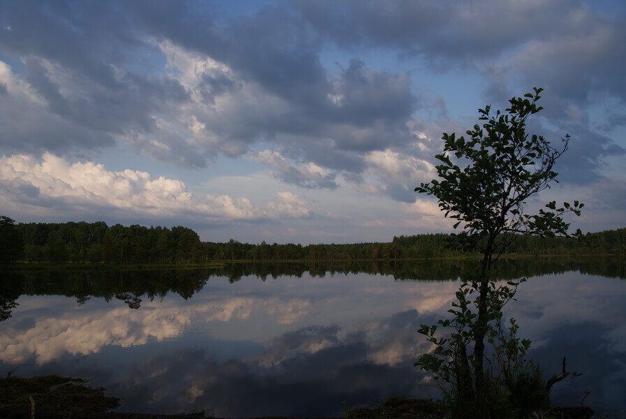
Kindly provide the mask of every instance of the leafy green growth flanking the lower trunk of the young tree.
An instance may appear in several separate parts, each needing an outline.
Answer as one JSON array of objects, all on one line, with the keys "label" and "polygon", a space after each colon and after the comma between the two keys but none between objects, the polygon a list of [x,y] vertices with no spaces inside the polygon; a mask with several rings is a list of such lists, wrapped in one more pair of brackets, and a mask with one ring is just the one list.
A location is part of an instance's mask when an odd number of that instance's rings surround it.
[{"label": "leafy green growth flanking the lower trunk of the young tree", "polygon": [[[507,330],[502,327],[502,308],[515,300],[517,287],[525,281],[521,278],[500,285],[489,281],[487,339],[493,346],[493,356],[485,372],[484,394],[476,393],[474,363],[467,353],[474,344],[473,331],[478,320],[475,306],[479,299],[471,300],[479,289],[475,279],[464,281],[456,292],[456,301],[448,310],[452,318],[439,320],[437,325],[421,325],[418,330],[435,345],[435,350],[422,355],[416,365],[435,374],[435,379],[451,384],[444,391],[459,417],[474,417],[476,410],[484,407],[482,402],[489,406],[494,418],[525,418],[545,407],[547,395],[539,369],[524,358],[530,340],[517,337],[519,327],[512,318]],[[441,335],[439,328],[452,332]]]}]

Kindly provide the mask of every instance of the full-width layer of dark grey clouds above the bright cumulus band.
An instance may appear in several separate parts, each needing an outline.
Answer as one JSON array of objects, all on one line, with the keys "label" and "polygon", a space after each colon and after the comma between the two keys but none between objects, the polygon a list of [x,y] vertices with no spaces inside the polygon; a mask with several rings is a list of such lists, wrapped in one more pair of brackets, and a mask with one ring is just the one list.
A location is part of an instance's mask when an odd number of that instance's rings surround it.
[{"label": "full-width layer of dark grey clouds above the bright cumulus band", "polygon": [[[412,149],[416,112],[448,117],[445,103],[416,94],[409,75],[369,68],[359,56],[374,47],[430,71],[477,72],[488,101],[545,87],[544,125],[577,131],[562,180],[600,179],[604,156],[624,152],[593,128],[625,120],[621,10],[569,0],[293,0],[237,17],[214,10],[199,1],[3,3],[0,51],[13,63],[0,80],[3,151],[75,153],[124,141],[152,159],[202,168],[263,142],[291,160],[273,168],[277,179],[332,189],[340,172],[361,178],[371,152],[425,156]],[[354,58],[326,68],[329,45]],[[204,68],[209,59],[219,65]],[[589,109],[602,94],[617,105],[595,121]],[[326,172],[310,177],[299,169],[307,163]],[[386,186],[392,198],[412,200],[412,185]]]}]

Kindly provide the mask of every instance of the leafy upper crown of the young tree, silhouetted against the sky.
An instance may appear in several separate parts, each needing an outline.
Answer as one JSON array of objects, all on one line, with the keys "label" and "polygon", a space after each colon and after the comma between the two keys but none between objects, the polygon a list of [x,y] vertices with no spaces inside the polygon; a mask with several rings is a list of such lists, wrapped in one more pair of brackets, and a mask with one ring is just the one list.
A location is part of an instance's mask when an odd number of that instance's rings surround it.
[{"label": "leafy upper crown of the young tree, silhouetted against the sky", "polygon": [[[528,198],[557,182],[553,166],[569,142],[566,135],[558,150],[543,136],[525,132],[527,118],[542,109],[536,103],[541,91],[535,88],[534,94],[511,98],[504,114],[497,110],[490,115],[490,106],[479,109],[479,119],[486,122],[467,131],[469,140],[444,133],[444,153],[435,156],[442,162],[436,166],[442,180],[416,187],[435,196],[446,216],[458,220],[455,228],[463,224],[465,231],[458,237],[461,247],[497,256],[510,247],[513,233],[568,236],[569,223],[563,214],[580,215],[584,204],[578,201],[559,208],[552,201],[538,214],[524,212]],[[451,155],[467,164],[458,166]],[[580,230],[576,235],[581,235]]]}]

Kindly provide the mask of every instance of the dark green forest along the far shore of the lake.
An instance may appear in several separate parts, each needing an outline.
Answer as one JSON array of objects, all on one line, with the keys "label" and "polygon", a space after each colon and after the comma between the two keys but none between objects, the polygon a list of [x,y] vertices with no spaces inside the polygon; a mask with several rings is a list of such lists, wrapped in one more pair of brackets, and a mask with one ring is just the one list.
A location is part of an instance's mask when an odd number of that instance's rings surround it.
[{"label": "dark green forest along the far shore of the lake", "polygon": [[[96,223],[18,223],[0,216],[0,263],[211,263],[226,260],[394,260],[471,256],[452,251],[450,234],[393,237],[358,244],[201,242],[190,228]],[[511,253],[563,255],[626,253],[626,228],[581,239],[519,235]]]}]

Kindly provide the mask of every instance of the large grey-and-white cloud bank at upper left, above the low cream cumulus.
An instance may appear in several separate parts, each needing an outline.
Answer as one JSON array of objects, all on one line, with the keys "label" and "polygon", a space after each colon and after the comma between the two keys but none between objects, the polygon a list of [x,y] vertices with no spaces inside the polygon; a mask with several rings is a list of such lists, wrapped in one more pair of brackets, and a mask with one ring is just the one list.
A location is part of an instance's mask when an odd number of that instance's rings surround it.
[{"label": "large grey-and-white cloud bank at upper left, above the low cream cumulus", "polygon": [[[13,29],[0,38],[11,63],[0,98],[9,152],[127,142],[152,159],[203,167],[263,141],[295,161],[358,171],[380,138],[387,146],[410,138],[416,96],[407,75],[359,59],[335,75],[321,64],[319,34],[289,8],[217,24],[195,4],[24,7],[7,6]],[[23,115],[37,117],[27,124]],[[332,175],[303,182],[334,187]]]}]

